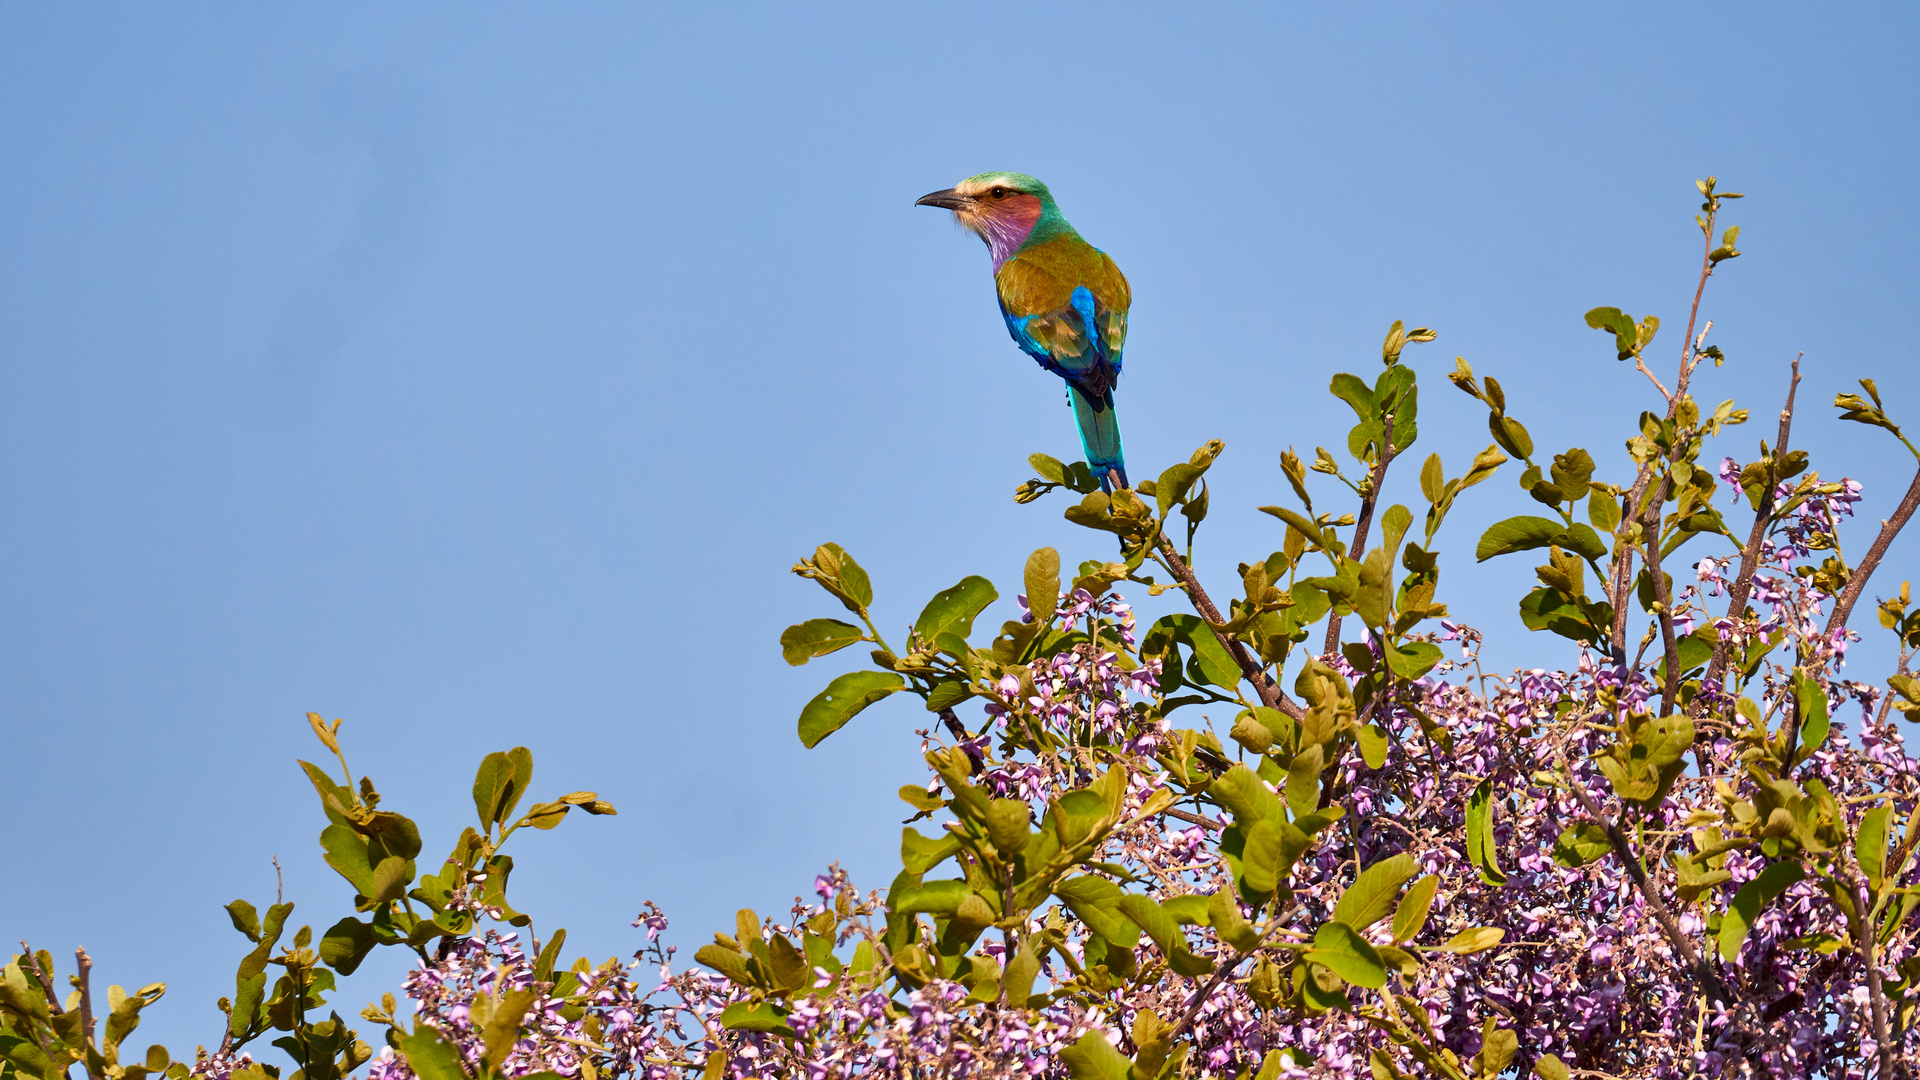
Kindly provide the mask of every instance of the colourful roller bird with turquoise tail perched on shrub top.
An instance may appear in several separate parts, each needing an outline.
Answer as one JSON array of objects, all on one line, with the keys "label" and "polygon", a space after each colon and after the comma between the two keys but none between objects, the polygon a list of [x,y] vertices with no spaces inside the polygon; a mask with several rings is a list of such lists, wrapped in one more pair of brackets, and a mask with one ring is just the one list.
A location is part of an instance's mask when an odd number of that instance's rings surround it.
[{"label": "colourful roller bird with turquoise tail perched on shrub top", "polygon": [[1087,467],[1100,490],[1127,488],[1114,384],[1133,290],[1114,259],[1068,225],[1041,181],[979,173],[914,206],[950,209],[987,244],[1000,315],[1014,344],[1068,384]]}]

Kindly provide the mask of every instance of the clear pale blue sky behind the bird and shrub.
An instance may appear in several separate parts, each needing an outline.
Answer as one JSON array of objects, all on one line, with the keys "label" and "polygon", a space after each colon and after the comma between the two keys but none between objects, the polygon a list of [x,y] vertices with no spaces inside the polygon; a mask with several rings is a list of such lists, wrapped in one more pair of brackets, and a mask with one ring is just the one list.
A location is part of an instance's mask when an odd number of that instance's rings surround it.
[{"label": "clear pale blue sky behind the bird and shrub", "polygon": [[[1486,444],[1459,354],[1619,473],[1651,398],[1580,315],[1678,352],[1709,171],[1749,198],[1701,398],[1755,409],[1751,455],[1805,350],[1795,440],[1878,519],[1912,461],[1826,404],[1872,375],[1920,423],[1916,44],[1899,4],[4,2],[0,930],[169,980],[142,1036],[215,1042],[219,907],[275,855],[296,919],[346,907],[305,709],[428,859],[488,749],[614,801],[515,851],[595,955],[645,897],[691,951],[829,859],[883,886],[924,713],[801,749],[851,661],[781,663],[835,613],[787,567],[843,542],[900,626],[1041,544],[1108,553],[1008,498],[1077,454],[1068,409],[981,246],[912,208],[983,169],[1131,277],[1135,473],[1227,440],[1215,575],[1279,544],[1281,450],[1342,444],[1327,379],[1396,317],[1440,331],[1423,455]],[[1530,563],[1469,557],[1528,505],[1465,496],[1442,590],[1494,659],[1567,663],[1513,615]]]}]

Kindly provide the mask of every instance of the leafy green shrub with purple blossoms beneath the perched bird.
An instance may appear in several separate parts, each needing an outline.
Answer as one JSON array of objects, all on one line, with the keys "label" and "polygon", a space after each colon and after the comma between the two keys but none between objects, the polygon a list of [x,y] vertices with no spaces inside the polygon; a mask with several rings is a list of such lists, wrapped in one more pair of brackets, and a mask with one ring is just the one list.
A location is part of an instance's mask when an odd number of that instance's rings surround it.
[{"label": "leafy green shrub with purple blossoms beneath the perched bird", "polygon": [[[1738,196],[1699,188],[1705,288],[1738,256],[1738,229],[1715,242]],[[801,561],[858,623],[791,626],[785,659],[872,655],[803,709],[801,740],[893,694],[929,717],[885,890],[833,867],[783,915],[741,911],[693,967],[659,942],[649,903],[634,963],[566,965],[564,932],[513,930],[528,920],[507,903],[499,847],[612,807],[574,792],[515,817],[532,757],[490,755],[480,826],[419,876],[413,822],[376,809],[338,723],[313,717],[344,773],[305,765],[323,846],[359,917],[271,955],[292,905],[261,920],[236,901],[255,949],[221,1003],[221,1045],[196,1063],[154,1047],[119,1065],[138,1003],[163,988],[113,995],[96,1042],[90,1005],[54,999],[52,957],[21,953],[0,984],[0,1074],[52,1080],[84,1061],[111,1080],[263,1080],[278,1070],[242,1047],[276,1030],[309,1080],[363,1065],[372,1080],[1910,1076],[1920,769],[1897,724],[1920,713],[1920,611],[1907,584],[1878,605],[1897,669],[1874,684],[1841,665],[1920,475],[1849,563],[1839,523],[1862,492],[1789,450],[1797,363],[1774,444],[1709,467],[1709,444],[1747,421],[1690,394],[1703,361],[1724,361],[1711,323],[1695,334],[1690,317],[1668,390],[1645,361],[1657,319],[1586,319],[1659,394],[1613,479],[1580,448],[1536,459],[1500,382],[1457,361],[1448,379],[1486,405],[1494,444],[1453,479],[1425,459],[1415,532],[1384,490],[1419,434],[1402,354],[1434,334],[1396,323],[1371,382],[1331,384],[1357,417],[1352,463],[1283,455],[1298,505],[1260,507],[1281,550],[1240,563],[1225,609],[1190,565],[1219,442],[1112,494],[1083,463],[1035,455],[1016,498],[1077,494],[1068,521],[1117,536],[1119,559],[1064,575],[1058,552],[1035,552],[1021,617],[996,630],[973,623],[998,590],[966,577],[895,650],[852,555],[826,544]],[[1907,444],[1862,390],[1837,396],[1841,419]],[[1442,525],[1509,465],[1544,515],[1492,523],[1475,555],[1544,552],[1519,615],[1578,644],[1569,671],[1486,673],[1480,632],[1438,600]],[[1309,471],[1352,509],[1317,509]],[[1741,536],[1728,517],[1747,513]],[[1142,628],[1125,600],[1142,588],[1192,613]],[[1187,719],[1202,707],[1233,715],[1231,730]],[[309,1013],[378,945],[419,965],[409,1009],[386,995],[363,1013],[386,1028],[374,1053],[338,1015]],[[267,967],[284,972],[271,994]]]}]

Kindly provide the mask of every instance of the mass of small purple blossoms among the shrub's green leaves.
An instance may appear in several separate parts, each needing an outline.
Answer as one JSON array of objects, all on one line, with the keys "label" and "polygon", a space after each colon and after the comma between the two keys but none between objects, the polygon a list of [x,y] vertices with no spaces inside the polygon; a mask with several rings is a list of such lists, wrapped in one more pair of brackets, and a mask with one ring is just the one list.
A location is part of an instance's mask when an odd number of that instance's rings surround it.
[{"label": "mass of small purple blossoms among the shrub's green leaves", "polygon": [[[1340,744],[1321,790],[1323,805],[1342,815],[1283,876],[1260,947],[1236,947],[1190,919],[1175,940],[1142,936],[1123,947],[1112,928],[1050,905],[985,934],[964,957],[948,951],[945,967],[916,967],[914,955],[947,947],[939,932],[891,911],[893,894],[862,897],[835,867],[816,878],[818,899],[795,899],[785,922],[756,919],[722,936],[741,970],[676,972],[672,949],[657,942],[666,919],[649,903],[636,920],[649,944],[626,969],[576,965],[541,978],[513,934],[461,942],[409,976],[415,1024],[451,1040],[474,1076],[486,1072],[488,1053],[476,1009],[497,1009],[515,990],[532,992],[532,1003],[511,1051],[492,1065],[501,1076],[1066,1078],[1092,1032],[1142,1061],[1177,1043],[1187,1076],[1361,1080],[1392,1074],[1382,1068],[1421,1072],[1405,1032],[1425,1032],[1428,1051],[1457,1063],[1480,1053],[1496,1028],[1517,1040],[1523,1072],[1553,1055],[1605,1076],[1874,1076],[1878,1045],[1864,1011],[1876,974],[1901,1009],[1899,1053],[1920,1053],[1920,1034],[1901,1019],[1920,999],[1920,951],[1905,920],[1920,878],[1901,871],[1884,892],[1907,899],[1880,924],[1872,970],[1845,915],[1859,897],[1837,901],[1832,886],[1805,876],[1774,890],[1772,903],[1740,899],[1795,857],[1780,846],[1788,824],[1738,832],[1751,807],[1764,815],[1782,799],[1818,801],[1830,809],[1807,813],[1832,819],[1820,819],[1820,836],[1853,836],[1872,807],[1893,822],[1920,807],[1920,761],[1885,707],[1874,713],[1878,690],[1837,678],[1845,638],[1820,626],[1830,596],[1814,577],[1793,573],[1824,550],[1820,523],[1851,513],[1857,498],[1851,482],[1816,488],[1782,542],[1766,544],[1766,573],[1753,577],[1764,615],[1713,625],[1722,648],[1751,657],[1747,675],[1718,696],[1699,690],[1715,709],[1699,711],[1688,728],[1692,761],[1651,799],[1628,796],[1607,761],[1628,761],[1632,732],[1655,719],[1663,686],[1653,669],[1582,650],[1569,671],[1459,675],[1475,671],[1480,634],[1444,623],[1438,640],[1457,642],[1459,659],[1344,721],[1379,730],[1382,757],[1369,765]],[[1718,596],[1728,569],[1701,561],[1699,588],[1682,600]],[[941,771],[947,751],[964,753],[970,780],[960,786],[1027,803],[1031,821],[1119,774],[1116,824],[1083,865],[1160,903],[1225,894],[1242,919],[1260,917],[1235,892],[1233,815],[1181,771],[1261,765],[1261,748],[1242,742],[1235,751],[1212,730],[1173,728],[1165,655],[1140,655],[1133,611],[1117,594],[1073,592],[1043,623],[1058,648],[977,686],[977,730],[950,721],[947,746],[922,732],[935,773],[931,805],[956,796],[954,774]],[[1350,661],[1377,663],[1379,653],[1323,663],[1340,686],[1359,684],[1365,671]],[[1770,776],[1753,765],[1782,753],[1766,717],[1799,715],[1805,694],[1836,715],[1853,700],[1859,721],[1822,732],[1803,755],[1786,749],[1782,776]],[[1269,776],[1273,792],[1284,786],[1284,774]],[[1488,822],[1478,851],[1469,821],[1476,799]],[[1803,809],[1770,813],[1791,819]],[[1619,857],[1613,836],[1632,838],[1638,867]],[[1816,853],[1822,842],[1805,836],[1801,849]],[[1398,855],[1434,878],[1430,917],[1413,936],[1386,922],[1361,936],[1380,955],[1409,959],[1396,961],[1384,994],[1336,984],[1325,988],[1332,997],[1302,997],[1302,980],[1315,978],[1304,965],[1315,932],[1361,871]],[[920,878],[902,882],[897,890]],[[1730,932],[1732,920],[1743,920],[1743,932]],[[1455,947],[1463,932],[1490,947]],[[1008,999],[1000,976],[1033,942],[1046,947],[1031,995]],[[781,963],[803,965],[799,976],[764,974]],[[634,972],[645,967],[659,969],[659,984],[641,992]],[[1171,1042],[1154,1043],[1156,1030]],[[215,1063],[202,1074],[223,1080]],[[413,1072],[388,1049],[372,1080]]]}]

